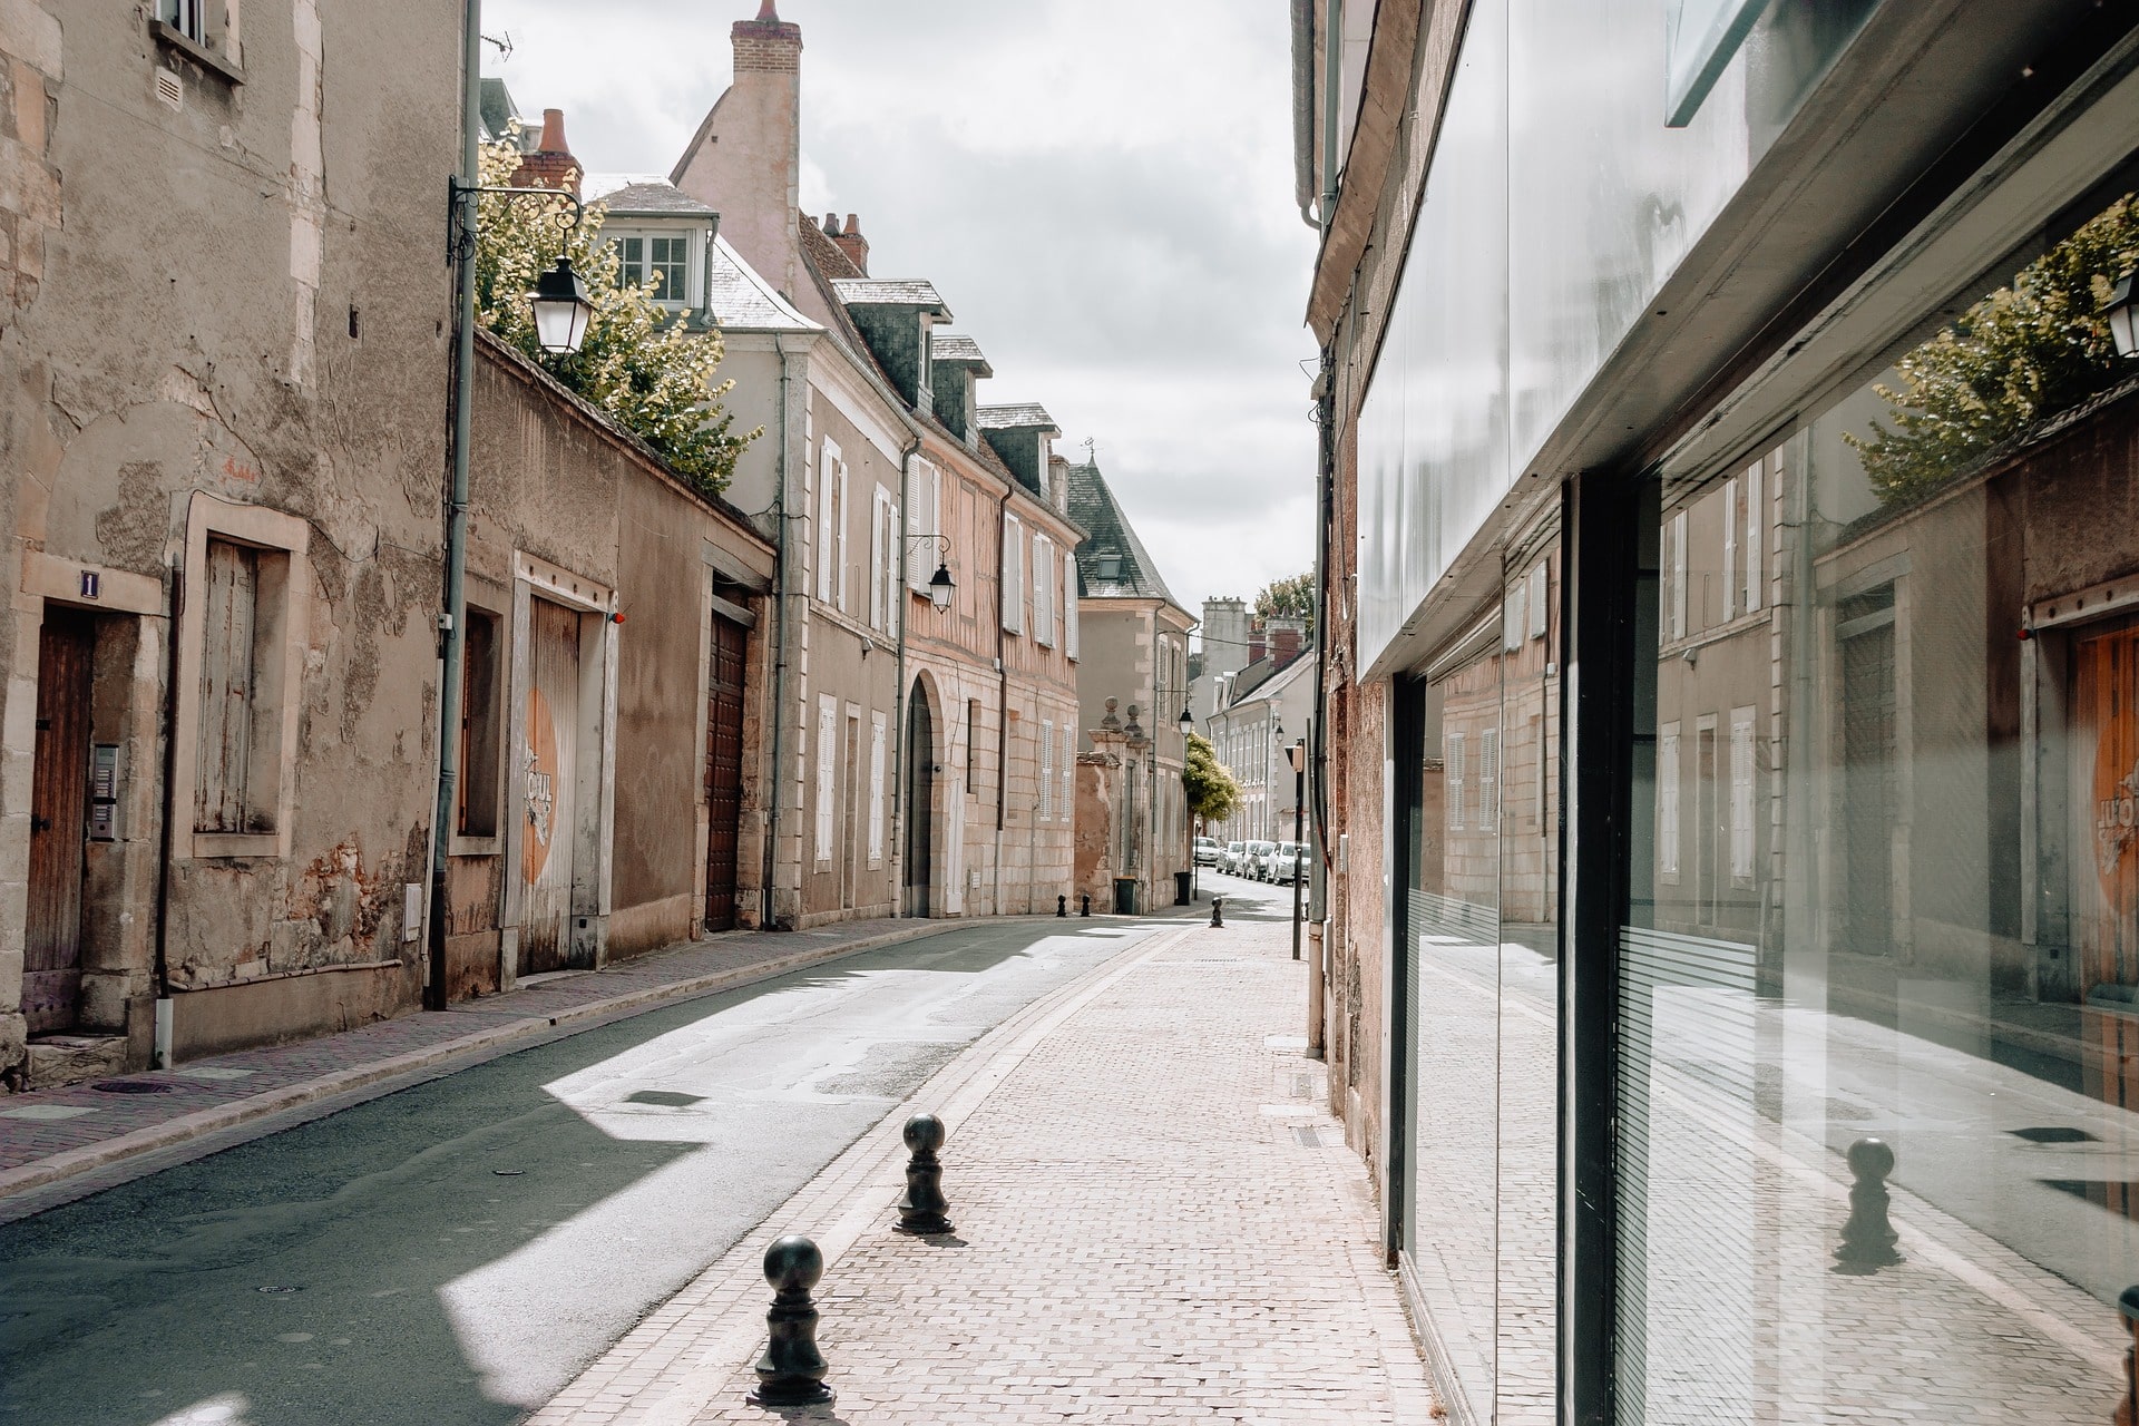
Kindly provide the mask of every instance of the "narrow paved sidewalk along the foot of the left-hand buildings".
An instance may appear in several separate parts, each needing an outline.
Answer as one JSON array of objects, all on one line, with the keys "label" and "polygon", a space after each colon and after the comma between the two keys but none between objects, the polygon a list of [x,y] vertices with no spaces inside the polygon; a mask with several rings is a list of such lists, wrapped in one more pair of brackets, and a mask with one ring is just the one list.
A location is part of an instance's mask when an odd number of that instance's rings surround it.
[{"label": "narrow paved sidewalk along the foot of the left-hand buildings", "polygon": [[[116,1159],[184,1144],[445,1058],[524,1043],[552,1026],[625,1016],[956,926],[960,921],[873,919],[804,932],[723,934],[603,971],[464,1001],[443,1013],[411,1013],[340,1035],[96,1082],[150,1086],[148,1092],[71,1084],[0,1095],[0,1221],[51,1206],[51,1184]],[[60,1191],[60,1197],[71,1193]]]}]

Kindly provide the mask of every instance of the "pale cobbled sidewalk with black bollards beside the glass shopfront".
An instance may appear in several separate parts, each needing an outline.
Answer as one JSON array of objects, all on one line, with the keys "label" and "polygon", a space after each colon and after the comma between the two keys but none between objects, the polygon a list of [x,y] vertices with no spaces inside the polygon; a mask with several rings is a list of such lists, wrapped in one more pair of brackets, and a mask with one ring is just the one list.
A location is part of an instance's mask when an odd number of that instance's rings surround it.
[{"label": "pale cobbled sidewalk with black bollards beside the glass shopfront", "polygon": [[[539,1426],[766,1422],[759,1259],[811,1231],[838,1400],[798,1420],[1427,1422],[1283,924],[1147,941],[1005,1022],[560,1392]],[[890,1231],[950,1125],[956,1234]]]}]

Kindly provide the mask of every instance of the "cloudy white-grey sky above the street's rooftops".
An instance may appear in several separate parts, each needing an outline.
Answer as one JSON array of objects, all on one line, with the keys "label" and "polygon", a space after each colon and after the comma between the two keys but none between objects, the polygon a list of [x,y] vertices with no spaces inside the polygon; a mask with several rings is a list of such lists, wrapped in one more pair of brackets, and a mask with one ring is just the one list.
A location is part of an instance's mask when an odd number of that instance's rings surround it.
[{"label": "cloudy white-grey sky above the street's rooftops", "polygon": [[[757,0],[490,0],[486,56],[597,173],[667,171]],[[599,19],[597,19],[599,15]],[[781,0],[802,26],[802,205],[930,278],[1042,402],[1191,611],[1313,560],[1315,235],[1292,203],[1279,0]]]}]

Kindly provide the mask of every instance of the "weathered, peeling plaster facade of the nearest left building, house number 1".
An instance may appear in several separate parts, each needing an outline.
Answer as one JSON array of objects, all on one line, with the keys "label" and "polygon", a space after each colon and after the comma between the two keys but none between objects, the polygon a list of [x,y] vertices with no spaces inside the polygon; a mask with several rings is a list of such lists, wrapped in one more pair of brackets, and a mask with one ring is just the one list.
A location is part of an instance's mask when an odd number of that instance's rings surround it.
[{"label": "weathered, peeling plaster facade of the nearest left building, house number 1", "polygon": [[0,11],[11,1084],[417,998],[458,47]]}]

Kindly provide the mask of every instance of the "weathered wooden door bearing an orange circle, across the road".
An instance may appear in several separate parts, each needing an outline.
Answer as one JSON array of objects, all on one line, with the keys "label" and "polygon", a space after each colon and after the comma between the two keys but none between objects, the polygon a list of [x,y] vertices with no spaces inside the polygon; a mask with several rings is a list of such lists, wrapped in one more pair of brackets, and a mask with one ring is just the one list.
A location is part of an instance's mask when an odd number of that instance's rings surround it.
[{"label": "weathered wooden door bearing an orange circle, across the road", "polygon": [[528,605],[526,825],[520,830],[520,975],[571,962],[571,883],[578,842],[580,616]]}]

